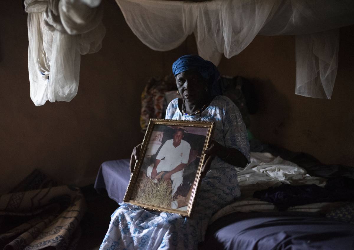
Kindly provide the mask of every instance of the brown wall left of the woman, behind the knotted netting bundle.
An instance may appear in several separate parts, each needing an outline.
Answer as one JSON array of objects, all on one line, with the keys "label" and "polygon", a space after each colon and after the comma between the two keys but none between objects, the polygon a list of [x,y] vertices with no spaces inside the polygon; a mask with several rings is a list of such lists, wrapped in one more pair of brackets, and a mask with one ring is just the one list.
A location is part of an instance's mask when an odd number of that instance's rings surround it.
[{"label": "brown wall left of the woman, behind the knotted netting bundle", "polygon": [[185,44],[149,49],[131,32],[114,0],[103,1],[102,49],[81,56],[70,102],[36,107],[29,96],[27,14],[22,1],[0,8],[0,192],[39,168],[60,183],[92,183],[101,163],[127,158],[140,143],[140,95],[151,76],[170,73]]}]

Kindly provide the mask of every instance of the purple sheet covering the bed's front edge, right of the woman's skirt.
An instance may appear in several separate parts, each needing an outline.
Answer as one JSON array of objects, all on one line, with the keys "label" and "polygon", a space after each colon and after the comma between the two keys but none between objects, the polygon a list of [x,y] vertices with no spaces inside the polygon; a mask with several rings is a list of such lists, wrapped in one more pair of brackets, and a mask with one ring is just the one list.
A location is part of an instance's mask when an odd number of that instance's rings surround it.
[{"label": "purple sheet covering the bed's front edge, right of the woman's skirt", "polygon": [[209,226],[202,250],[349,250],[354,225],[315,213],[233,213]]}]

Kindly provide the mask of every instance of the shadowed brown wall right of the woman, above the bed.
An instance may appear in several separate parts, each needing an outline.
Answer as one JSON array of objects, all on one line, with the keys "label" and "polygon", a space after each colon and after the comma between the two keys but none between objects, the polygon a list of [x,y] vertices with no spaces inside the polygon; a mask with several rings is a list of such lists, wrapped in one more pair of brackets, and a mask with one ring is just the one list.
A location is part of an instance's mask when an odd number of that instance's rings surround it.
[{"label": "shadowed brown wall right of the woman, above the bed", "polygon": [[354,25],[340,29],[339,64],[331,100],[295,95],[295,37],[257,36],[221,61],[227,75],[253,79],[260,97],[251,116],[256,138],[323,163],[354,166]]}]

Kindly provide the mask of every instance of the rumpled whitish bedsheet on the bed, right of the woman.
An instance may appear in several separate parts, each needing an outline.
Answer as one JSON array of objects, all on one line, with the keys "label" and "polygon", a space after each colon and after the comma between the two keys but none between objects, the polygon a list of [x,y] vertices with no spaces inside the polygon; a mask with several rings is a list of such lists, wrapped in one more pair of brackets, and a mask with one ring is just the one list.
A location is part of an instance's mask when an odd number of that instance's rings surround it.
[{"label": "rumpled whitish bedsheet on the bed, right of the woman", "polygon": [[[241,189],[241,197],[234,203],[219,210],[210,220],[210,224],[218,218],[233,212],[271,212],[278,209],[270,202],[264,202],[253,198],[257,190],[267,189],[281,184],[303,185],[316,184],[324,186],[326,179],[312,177],[304,168],[281,157],[275,157],[269,153],[251,152],[251,163],[244,169],[238,169],[238,181]],[[301,206],[290,207],[288,211],[301,212],[325,212],[340,206],[343,202],[321,202]]]}]

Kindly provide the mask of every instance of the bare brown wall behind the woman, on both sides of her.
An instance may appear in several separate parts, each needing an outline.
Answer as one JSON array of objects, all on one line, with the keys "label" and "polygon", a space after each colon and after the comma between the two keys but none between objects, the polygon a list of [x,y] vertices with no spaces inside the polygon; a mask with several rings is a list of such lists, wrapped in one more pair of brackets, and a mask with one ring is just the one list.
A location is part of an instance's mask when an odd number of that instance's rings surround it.
[{"label": "bare brown wall behind the woman, on both sides of her", "polygon": [[[170,73],[178,56],[196,53],[193,37],[156,52],[132,34],[115,1],[103,1],[103,48],[81,57],[80,85],[71,102],[36,107],[29,97],[27,14],[22,1],[0,9],[0,193],[39,168],[59,183],[86,185],[106,160],[129,157],[142,140],[140,95],[150,76]],[[305,151],[325,163],[353,166],[353,26],[341,29],[332,100],[295,95],[293,36],[261,37],[223,58],[225,75],[258,78],[261,109],[251,130],[265,142]]]}]

